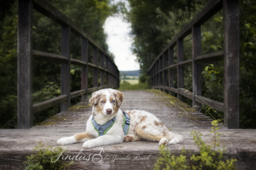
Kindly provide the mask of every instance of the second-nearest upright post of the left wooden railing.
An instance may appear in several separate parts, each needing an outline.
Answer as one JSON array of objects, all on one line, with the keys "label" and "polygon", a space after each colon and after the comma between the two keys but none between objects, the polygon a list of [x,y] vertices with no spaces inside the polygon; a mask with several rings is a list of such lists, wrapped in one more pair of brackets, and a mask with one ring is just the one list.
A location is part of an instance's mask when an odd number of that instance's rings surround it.
[{"label": "second-nearest upright post of the left wooden railing", "polygon": [[61,111],[65,111],[70,106],[70,26],[61,26],[61,54],[68,59],[67,63],[61,63],[61,94],[67,95]]}]

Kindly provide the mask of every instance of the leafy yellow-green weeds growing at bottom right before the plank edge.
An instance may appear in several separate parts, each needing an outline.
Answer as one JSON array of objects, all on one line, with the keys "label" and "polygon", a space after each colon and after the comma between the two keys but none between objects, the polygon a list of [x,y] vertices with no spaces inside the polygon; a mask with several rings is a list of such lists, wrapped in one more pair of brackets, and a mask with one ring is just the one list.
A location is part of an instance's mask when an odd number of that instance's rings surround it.
[{"label": "leafy yellow-green weeds growing at bottom right before the plank edge", "polygon": [[[224,149],[219,148],[218,121],[212,122],[213,134],[212,145],[206,144],[202,139],[201,133],[192,131],[191,135],[195,144],[200,147],[198,155],[190,156],[190,161],[186,159],[186,150],[182,150],[180,156],[172,156],[170,150],[166,146],[160,146],[160,158],[154,165],[155,170],[159,169],[237,169],[234,165],[236,159],[224,160]],[[184,156],[183,156],[184,155]]]}]

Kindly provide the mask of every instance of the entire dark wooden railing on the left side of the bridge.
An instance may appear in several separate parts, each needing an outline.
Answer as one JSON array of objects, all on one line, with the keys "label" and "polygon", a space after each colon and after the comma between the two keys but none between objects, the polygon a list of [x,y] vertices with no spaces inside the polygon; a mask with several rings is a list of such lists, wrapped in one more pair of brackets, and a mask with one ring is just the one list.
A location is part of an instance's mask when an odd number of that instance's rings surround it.
[{"label": "entire dark wooden railing on the left side of the bridge", "polygon": [[[61,54],[49,54],[32,48],[33,8],[61,25]],[[45,0],[19,0],[18,7],[18,128],[32,127],[33,113],[61,104],[61,111],[70,106],[70,99],[101,88],[119,88],[119,70],[113,59],[79,26]],[[81,38],[81,59],[70,58],[70,36]],[[88,47],[93,48],[93,61],[88,62]],[[100,53],[100,63],[98,63]],[[61,63],[61,95],[44,102],[32,103],[32,60]],[[70,92],[70,65],[81,66],[81,90]],[[88,67],[93,69],[93,88],[88,88]],[[101,83],[98,87],[98,71]]]}]

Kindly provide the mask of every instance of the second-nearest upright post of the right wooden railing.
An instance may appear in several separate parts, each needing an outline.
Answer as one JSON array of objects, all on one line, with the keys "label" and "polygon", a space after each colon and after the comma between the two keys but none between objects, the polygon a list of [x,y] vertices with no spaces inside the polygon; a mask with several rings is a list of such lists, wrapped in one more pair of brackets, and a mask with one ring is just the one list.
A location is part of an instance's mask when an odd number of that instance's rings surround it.
[{"label": "second-nearest upright post of the right wooden railing", "polygon": [[201,26],[192,26],[192,72],[193,72],[193,106],[195,96],[201,96],[201,65],[195,58],[201,54]]}]

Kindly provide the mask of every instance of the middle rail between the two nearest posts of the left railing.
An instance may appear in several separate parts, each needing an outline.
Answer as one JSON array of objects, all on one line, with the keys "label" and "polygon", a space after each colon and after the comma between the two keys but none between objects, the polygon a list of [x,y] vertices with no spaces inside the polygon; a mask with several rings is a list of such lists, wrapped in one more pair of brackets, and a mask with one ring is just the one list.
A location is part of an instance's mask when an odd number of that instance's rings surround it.
[{"label": "middle rail between the two nearest posts of the left railing", "polygon": [[46,53],[38,50],[32,50],[32,53],[35,59],[38,59],[38,60],[44,60],[44,61],[47,60],[47,61],[58,62],[58,63],[66,63],[68,61],[68,59],[65,56],[59,55],[59,54],[50,54],[50,53]]}]

